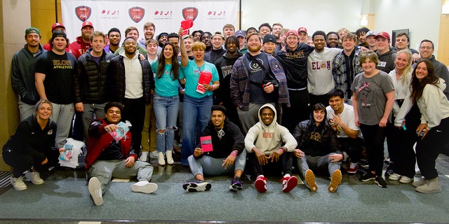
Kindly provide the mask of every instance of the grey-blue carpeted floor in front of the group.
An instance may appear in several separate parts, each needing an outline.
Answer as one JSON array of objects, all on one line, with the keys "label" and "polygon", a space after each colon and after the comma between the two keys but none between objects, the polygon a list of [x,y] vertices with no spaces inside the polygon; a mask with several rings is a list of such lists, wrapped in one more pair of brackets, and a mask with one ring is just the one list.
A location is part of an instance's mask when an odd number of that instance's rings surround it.
[{"label": "grey-blue carpeted floor in front of the group", "polygon": [[346,174],[336,193],[328,192],[323,177],[317,178],[316,193],[302,185],[282,193],[279,177],[269,178],[267,193],[257,193],[250,181],[234,193],[226,176],[207,179],[213,186],[208,192],[187,193],[182,189],[182,183],[192,179],[187,167],[155,166],[155,193],[132,193],[133,180],[112,182],[101,207],[90,199],[83,171],[58,169],[41,186],[27,182],[28,190],[11,188],[0,195],[0,222],[449,223],[448,161],[438,158],[443,191],[431,195],[397,181],[379,188]]}]

